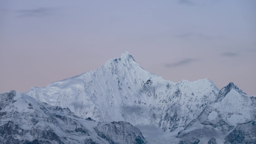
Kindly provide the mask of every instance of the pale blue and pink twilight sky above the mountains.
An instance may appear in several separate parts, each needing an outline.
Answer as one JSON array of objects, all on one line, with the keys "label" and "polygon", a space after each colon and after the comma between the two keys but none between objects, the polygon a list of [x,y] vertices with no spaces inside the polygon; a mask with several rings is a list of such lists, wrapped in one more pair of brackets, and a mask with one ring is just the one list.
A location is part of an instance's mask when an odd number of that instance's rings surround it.
[{"label": "pale blue and pink twilight sky above the mountains", "polygon": [[128,51],[179,82],[256,95],[255,0],[0,0],[0,92],[96,70]]}]

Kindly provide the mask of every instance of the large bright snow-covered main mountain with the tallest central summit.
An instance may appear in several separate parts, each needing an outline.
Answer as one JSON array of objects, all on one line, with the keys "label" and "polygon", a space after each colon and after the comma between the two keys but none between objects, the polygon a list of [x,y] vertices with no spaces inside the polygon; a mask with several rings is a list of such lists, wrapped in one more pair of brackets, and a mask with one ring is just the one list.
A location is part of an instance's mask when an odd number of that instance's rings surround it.
[{"label": "large bright snow-covered main mountain with the tallest central summit", "polygon": [[174,83],[141,68],[128,53],[97,70],[26,92],[51,105],[68,107],[80,117],[152,124],[163,131],[184,128],[219,90],[208,79]]}]

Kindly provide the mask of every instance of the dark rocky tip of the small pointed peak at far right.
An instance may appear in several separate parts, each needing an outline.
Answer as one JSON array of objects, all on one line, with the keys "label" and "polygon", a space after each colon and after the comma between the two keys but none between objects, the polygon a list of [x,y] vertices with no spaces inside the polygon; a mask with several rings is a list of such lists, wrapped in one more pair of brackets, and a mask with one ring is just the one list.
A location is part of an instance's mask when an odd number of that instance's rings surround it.
[{"label": "dark rocky tip of the small pointed peak at far right", "polygon": [[224,88],[222,88],[219,91],[219,96],[216,99],[216,101],[221,101],[232,89],[234,89],[235,91],[237,91],[239,94],[241,95],[247,95],[246,93],[244,93],[241,89],[239,89],[233,82],[230,82],[227,86],[225,86]]}]

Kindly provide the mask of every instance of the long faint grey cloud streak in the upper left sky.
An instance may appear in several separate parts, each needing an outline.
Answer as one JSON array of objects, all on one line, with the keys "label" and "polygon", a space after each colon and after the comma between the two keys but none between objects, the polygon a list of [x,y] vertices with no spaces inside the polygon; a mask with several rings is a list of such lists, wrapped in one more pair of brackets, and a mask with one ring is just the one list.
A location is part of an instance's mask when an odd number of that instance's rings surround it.
[{"label": "long faint grey cloud streak in the upper left sky", "polygon": [[39,7],[37,9],[17,10],[18,17],[43,17],[52,15],[53,8]]}]

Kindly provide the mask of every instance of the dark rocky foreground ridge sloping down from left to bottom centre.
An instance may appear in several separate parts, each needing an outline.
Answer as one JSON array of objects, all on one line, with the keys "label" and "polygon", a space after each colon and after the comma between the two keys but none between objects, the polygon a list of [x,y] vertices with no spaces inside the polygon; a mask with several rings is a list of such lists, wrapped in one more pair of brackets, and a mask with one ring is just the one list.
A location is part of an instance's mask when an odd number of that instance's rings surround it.
[{"label": "dark rocky foreground ridge sloping down from left to bottom centre", "polygon": [[[140,130],[127,122],[102,125],[91,118],[77,117],[68,108],[37,102],[16,91],[0,96],[0,102],[6,104],[0,107],[1,144],[146,144]],[[102,137],[103,130],[113,123],[115,131]]]}]

